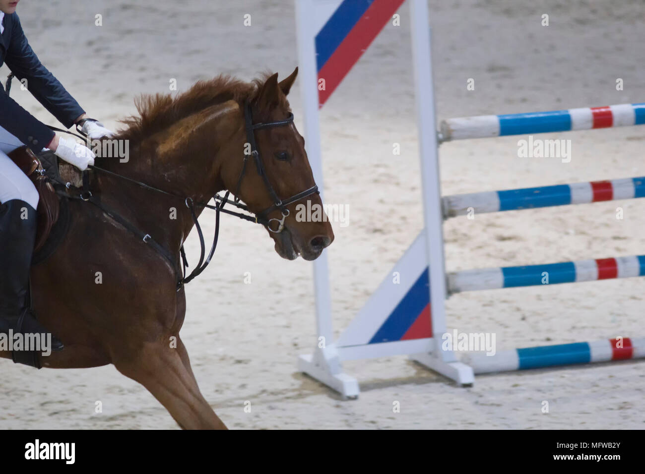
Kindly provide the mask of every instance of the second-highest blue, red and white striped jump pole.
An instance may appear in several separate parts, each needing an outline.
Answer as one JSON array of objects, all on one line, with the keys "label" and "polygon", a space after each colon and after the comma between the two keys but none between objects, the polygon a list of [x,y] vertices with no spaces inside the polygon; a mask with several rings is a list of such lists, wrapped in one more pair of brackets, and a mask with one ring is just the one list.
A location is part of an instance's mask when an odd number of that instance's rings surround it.
[{"label": "second-highest blue, red and white striped jump pole", "polygon": [[456,194],[442,197],[441,206],[444,219],[448,219],[448,217],[467,214],[470,210],[475,213],[514,211],[635,199],[637,197],[645,197],[645,176],[507,191]]}]

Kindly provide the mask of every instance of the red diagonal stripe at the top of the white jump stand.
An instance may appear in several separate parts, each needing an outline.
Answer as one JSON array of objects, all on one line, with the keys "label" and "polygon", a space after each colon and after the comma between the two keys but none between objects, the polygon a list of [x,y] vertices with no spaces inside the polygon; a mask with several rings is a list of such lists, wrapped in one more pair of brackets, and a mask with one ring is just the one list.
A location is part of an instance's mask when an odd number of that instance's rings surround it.
[{"label": "red diagonal stripe at the top of the white jump stand", "polygon": [[404,0],[374,0],[370,8],[365,10],[318,73],[318,79],[325,81],[325,89],[318,91],[319,107],[329,99],[403,2]]}]

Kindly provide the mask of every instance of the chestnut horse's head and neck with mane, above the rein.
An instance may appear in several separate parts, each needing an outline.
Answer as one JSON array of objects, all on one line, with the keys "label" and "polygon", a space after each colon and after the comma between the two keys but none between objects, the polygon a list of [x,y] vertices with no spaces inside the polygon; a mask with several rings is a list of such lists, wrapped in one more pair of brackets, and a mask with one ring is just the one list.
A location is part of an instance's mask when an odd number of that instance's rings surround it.
[{"label": "chestnut horse's head and neck with mane, above the rein", "polygon": [[[286,99],[297,72],[281,82],[277,74],[252,83],[220,75],[177,97],[144,95],[137,101],[139,116],[124,120],[128,128],[115,137],[132,141],[136,159],[97,163],[194,202],[228,190],[264,225],[281,257],[314,260],[332,243],[333,231]],[[193,226],[190,215],[184,224],[170,235],[173,251]]]}]

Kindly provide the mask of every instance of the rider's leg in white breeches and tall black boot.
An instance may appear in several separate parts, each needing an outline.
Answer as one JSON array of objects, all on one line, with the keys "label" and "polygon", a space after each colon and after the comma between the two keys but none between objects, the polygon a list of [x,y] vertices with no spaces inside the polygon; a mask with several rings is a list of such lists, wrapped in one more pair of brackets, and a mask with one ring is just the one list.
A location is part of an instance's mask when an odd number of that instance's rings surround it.
[{"label": "rider's leg in white breeches and tall black boot", "polygon": [[[0,127],[0,333],[10,329],[14,333],[48,333],[28,311],[26,301],[38,192],[7,156],[17,148],[15,137],[7,135]],[[52,336],[52,350],[62,348],[63,344]],[[23,362],[20,354],[14,353],[14,361]]]}]

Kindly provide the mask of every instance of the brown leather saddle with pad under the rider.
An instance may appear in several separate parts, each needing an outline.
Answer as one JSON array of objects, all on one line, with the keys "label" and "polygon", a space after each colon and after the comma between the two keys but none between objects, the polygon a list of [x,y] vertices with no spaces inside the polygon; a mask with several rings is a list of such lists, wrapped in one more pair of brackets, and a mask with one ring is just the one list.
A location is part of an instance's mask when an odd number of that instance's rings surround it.
[{"label": "brown leather saddle with pad under the rider", "polygon": [[52,151],[36,156],[30,148],[21,146],[8,153],[8,157],[32,180],[38,191],[40,199],[36,208],[37,231],[34,244],[34,253],[37,253],[45,247],[61,215],[65,218],[63,220],[68,220],[67,202],[61,201],[61,196],[56,192],[52,182],[61,183],[64,177],[67,177],[67,182],[75,184],[81,180],[81,176],[80,173],[75,172],[72,165],[61,163],[59,170],[58,158]]}]

